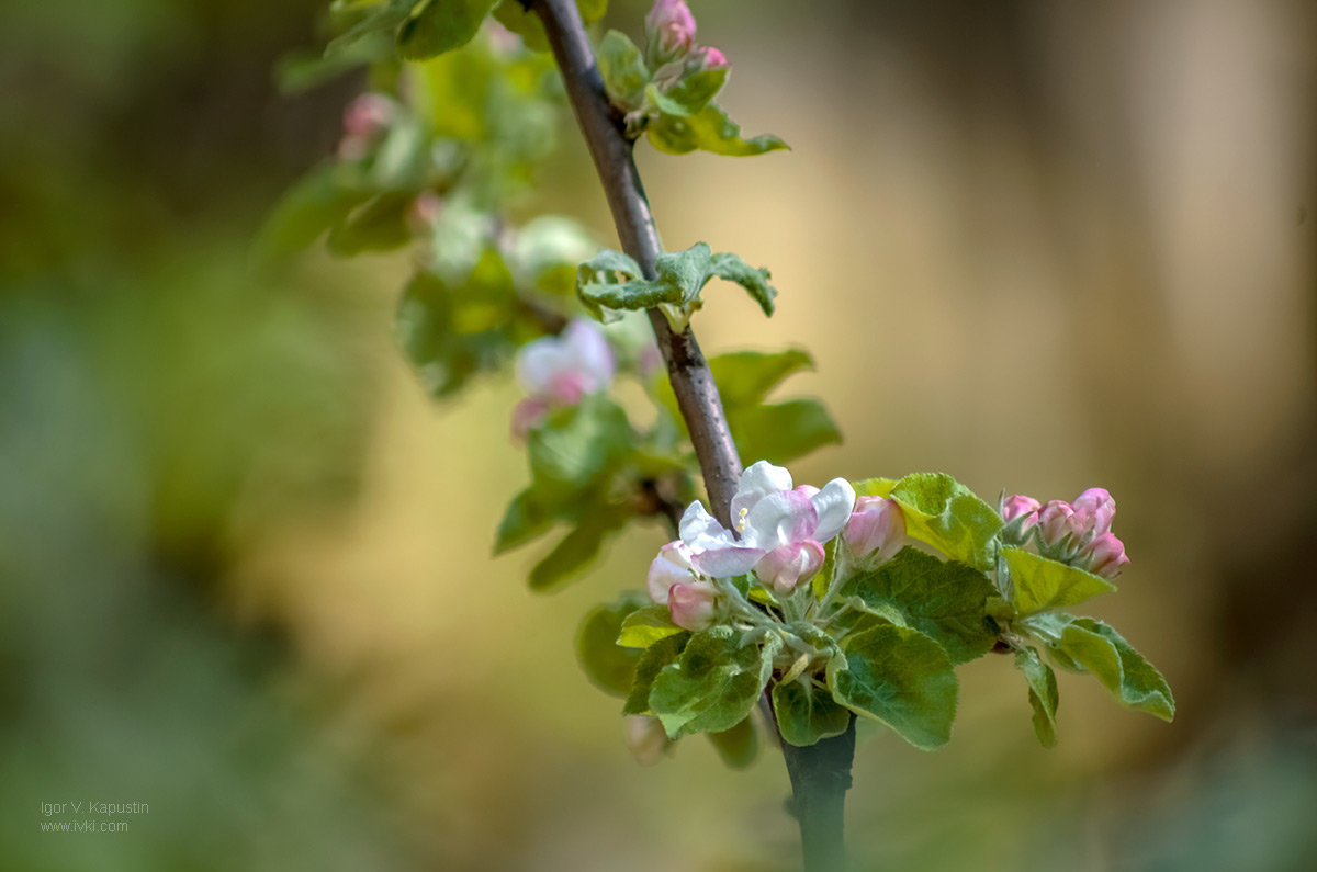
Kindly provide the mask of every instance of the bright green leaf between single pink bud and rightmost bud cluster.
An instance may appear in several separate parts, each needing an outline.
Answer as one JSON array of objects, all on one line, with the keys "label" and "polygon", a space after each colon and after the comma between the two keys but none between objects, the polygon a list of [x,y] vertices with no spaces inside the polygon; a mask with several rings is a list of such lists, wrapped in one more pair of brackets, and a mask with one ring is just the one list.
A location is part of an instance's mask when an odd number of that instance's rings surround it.
[{"label": "bright green leaf between single pink bud and rightmost bud cluster", "polygon": [[1001,518],[955,478],[944,473],[913,473],[893,485],[892,499],[905,511],[907,536],[975,569],[993,569],[993,536],[1001,530]]}]

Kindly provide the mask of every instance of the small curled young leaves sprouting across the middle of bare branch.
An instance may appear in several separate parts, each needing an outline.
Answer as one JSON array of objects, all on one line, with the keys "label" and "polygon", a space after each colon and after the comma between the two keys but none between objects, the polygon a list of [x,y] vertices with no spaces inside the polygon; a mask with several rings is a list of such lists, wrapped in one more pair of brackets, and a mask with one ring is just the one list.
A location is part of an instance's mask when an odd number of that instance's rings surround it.
[{"label": "small curled young leaves sprouting across the middle of bare branch", "polygon": [[699,292],[714,277],[735,282],[773,313],[777,291],[768,283],[766,269],[753,269],[735,254],[712,254],[697,242],[685,252],[660,254],[653,279],[641,278],[640,266],[620,252],[605,250],[577,270],[577,296],[598,320],[614,320],[627,310],[662,307],[673,329],[685,329],[690,312],[699,307]]}]

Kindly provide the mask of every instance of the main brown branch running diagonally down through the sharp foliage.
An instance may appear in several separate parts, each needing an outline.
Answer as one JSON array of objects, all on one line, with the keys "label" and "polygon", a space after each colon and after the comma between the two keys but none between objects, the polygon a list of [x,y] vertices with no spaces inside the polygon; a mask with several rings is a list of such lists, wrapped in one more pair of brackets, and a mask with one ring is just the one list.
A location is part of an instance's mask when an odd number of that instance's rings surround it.
[{"label": "main brown branch running diagonally down through the sharp foliage", "polygon": [[[652,279],[662,244],[632,158],[632,142],[623,134],[622,117],[603,90],[576,1],[533,0],[527,5],[544,22],[577,124],[603,183],[622,249],[635,258],[645,278]],[[658,310],[649,310],[648,315],[668,365],[677,406],[690,431],[710,508],[731,528],[731,499],[741,462],[718,386],[690,328],[676,333]],[[766,695],[764,701],[768,702]],[[772,706],[765,707],[772,715]],[[776,731],[776,721],[769,719]],[[855,757],[855,718],[842,735],[806,748],[781,742],[781,735],[778,740],[792,778],[792,811],[801,826],[805,869],[839,872],[846,863],[843,811]]]}]

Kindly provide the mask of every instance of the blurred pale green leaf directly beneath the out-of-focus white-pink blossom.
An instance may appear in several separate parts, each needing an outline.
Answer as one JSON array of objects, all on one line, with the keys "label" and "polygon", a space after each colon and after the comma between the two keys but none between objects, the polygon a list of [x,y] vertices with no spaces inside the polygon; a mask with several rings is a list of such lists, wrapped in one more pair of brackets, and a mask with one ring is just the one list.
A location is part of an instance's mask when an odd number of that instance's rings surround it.
[{"label": "blurred pale green leaf directly beneath the out-of-focus white-pink blossom", "polygon": [[558,410],[527,437],[536,486],[549,493],[579,493],[627,450],[632,439],[626,411],[602,394]]}]

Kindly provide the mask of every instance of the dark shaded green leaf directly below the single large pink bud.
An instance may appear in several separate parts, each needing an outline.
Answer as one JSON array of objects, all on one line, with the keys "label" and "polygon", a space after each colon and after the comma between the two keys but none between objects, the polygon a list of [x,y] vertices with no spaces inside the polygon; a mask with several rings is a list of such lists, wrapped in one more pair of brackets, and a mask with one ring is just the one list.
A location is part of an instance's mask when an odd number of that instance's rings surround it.
[{"label": "dark shaded green leaf directly below the single large pink bud", "polygon": [[997,627],[984,614],[994,593],[981,572],[906,547],[877,569],[846,580],[838,595],[859,597],[878,614],[896,610],[905,626],[940,644],[959,664],[986,653],[997,641]]}]

